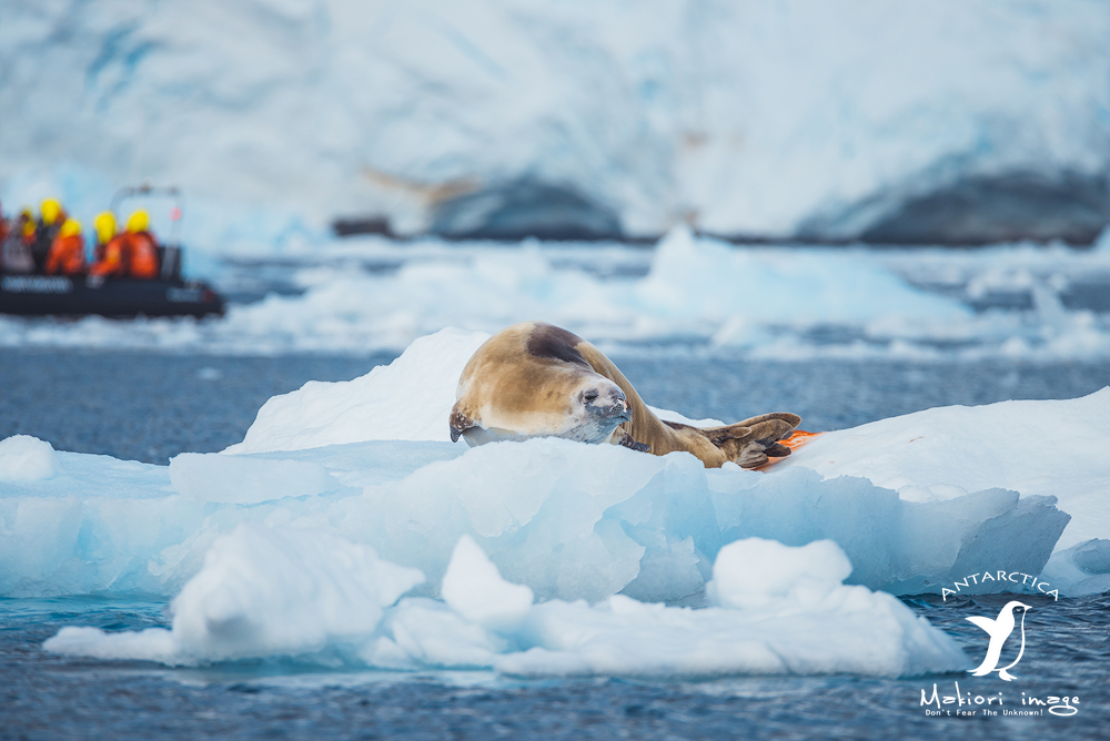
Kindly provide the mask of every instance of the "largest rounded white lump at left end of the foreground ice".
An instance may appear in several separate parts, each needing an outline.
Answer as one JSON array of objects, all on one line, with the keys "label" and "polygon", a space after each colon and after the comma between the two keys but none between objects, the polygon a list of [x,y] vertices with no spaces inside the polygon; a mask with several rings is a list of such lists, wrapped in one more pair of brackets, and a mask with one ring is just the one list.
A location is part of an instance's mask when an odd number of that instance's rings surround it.
[{"label": "largest rounded white lump at left end of the foreground ice", "polygon": [[373,632],[383,608],[423,580],[332,532],[241,525],[173,600],[172,630],[65,628],[46,648],[167,663],[311,653]]}]

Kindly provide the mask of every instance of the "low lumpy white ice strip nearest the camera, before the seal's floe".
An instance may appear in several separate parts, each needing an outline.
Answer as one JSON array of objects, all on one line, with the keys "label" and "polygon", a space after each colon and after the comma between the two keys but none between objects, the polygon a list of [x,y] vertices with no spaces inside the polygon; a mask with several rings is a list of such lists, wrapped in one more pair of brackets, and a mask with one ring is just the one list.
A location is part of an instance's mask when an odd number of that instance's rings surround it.
[{"label": "low lumpy white ice strip nearest the camera, before the seal's floe", "polygon": [[[729,558],[735,550],[743,558]],[[48,651],[171,666],[295,657],[392,670],[495,669],[509,676],[736,673],[915,676],[969,666],[951,638],[890,595],[846,587],[835,544],[788,548],[758,538],[722,551],[726,607],[694,610],[623,596],[589,606],[504,580],[460,539],[443,602],[397,597],[421,573],[365,546],[311,530],[240,526],[218,539],[173,600],[170,630],[63,628]],[[777,565],[786,561],[793,568]],[[747,578],[767,567],[769,579]],[[810,575],[821,575],[815,578]],[[394,602],[396,602],[394,605]]]}]

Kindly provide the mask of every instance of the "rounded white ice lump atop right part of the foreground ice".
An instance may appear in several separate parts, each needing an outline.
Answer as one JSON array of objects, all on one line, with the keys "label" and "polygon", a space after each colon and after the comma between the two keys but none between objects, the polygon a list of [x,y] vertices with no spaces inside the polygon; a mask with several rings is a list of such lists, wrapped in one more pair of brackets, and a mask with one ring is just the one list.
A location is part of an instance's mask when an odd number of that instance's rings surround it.
[{"label": "rounded white ice lump atop right part of the foreground ice", "polygon": [[816,603],[851,573],[851,561],[831,540],[800,548],[747,538],[720,549],[706,597],[722,607],[766,608],[791,600]]}]

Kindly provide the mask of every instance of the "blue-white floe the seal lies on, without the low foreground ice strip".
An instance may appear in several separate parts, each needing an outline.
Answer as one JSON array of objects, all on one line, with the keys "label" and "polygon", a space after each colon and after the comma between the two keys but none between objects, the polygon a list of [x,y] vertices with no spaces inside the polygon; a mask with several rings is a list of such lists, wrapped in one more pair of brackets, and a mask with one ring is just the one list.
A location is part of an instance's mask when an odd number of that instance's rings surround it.
[{"label": "blue-white floe the seal lies on, without the low foreground ice strip", "polygon": [[[53,454],[49,478],[0,488],[0,595],[167,598],[219,538],[250,525],[371,547],[418,569],[422,597],[440,595],[451,549],[467,537],[538,600],[689,606],[705,603],[722,550],[747,538],[831,540],[854,565],[847,583],[921,593],[1003,561],[1037,575],[1058,544],[1110,535],[1093,454],[1110,436],[1107,392],[934,409],[827,433],[768,473],[707,470],[687,454],[557,438],[452,444],[458,373],[485,337],[443,331],[362,378],[274,397],[222,454],[169,466]],[[1028,455],[1018,422],[1033,419],[1059,426],[1042,441],[1059,460],[1053,445],[1090,446],[1067,490]],[[1068,593],[1101,568],[1083,564],[1053,586]]]}]

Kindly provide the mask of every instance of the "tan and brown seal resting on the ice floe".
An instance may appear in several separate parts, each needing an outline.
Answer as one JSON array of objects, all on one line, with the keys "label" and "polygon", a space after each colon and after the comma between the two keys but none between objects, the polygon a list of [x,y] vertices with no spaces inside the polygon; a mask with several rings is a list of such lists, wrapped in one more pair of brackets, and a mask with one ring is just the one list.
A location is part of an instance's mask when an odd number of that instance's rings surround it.
[{"label": "tan and brown seal resting on the ice floe", "polygon": [[722,427],[663,422],[599,349],[566,329],[525,322],[502,329],[463,368],[451,439],[470,445],[529,437],[613,443],[662,456],[694,454],[706,468],[757,468],[785,457],[801,422],[774,413]]}]

